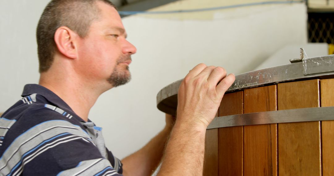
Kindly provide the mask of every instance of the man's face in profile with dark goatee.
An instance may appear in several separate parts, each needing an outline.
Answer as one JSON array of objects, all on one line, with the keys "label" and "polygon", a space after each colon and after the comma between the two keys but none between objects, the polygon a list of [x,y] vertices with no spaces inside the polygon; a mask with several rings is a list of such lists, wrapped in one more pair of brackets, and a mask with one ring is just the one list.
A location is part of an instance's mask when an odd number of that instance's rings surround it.
[{"label": "man's face in profile with dark goatee", "polygon": [[116,87],[127,83],[131,74],[129,64],[136,48],[129,43],[116,9],[97,1],[99,19],[94,21],[88,36],[79,39],[78,68],[83,78],[94,84]]}]

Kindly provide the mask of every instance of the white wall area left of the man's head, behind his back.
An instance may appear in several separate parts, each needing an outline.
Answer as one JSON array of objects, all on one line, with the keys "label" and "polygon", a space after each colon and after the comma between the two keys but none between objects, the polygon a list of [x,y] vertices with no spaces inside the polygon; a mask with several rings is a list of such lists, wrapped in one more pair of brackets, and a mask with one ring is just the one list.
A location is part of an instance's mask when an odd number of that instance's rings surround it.
[{"label": "white wall area left of the man's head, behind his back", "polygon": [[47,1],[0,1],[0,112],[20,99],[25,84],[38,82],[35,33]]}]

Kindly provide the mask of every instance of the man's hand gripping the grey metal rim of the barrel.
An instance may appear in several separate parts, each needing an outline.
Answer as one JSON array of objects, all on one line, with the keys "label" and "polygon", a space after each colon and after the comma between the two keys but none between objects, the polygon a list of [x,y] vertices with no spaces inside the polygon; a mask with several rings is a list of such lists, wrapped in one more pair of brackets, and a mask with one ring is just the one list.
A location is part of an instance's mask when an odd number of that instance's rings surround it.
[{"label": "man's hand gripping the grey metal rim of the barrel", "polygon": [[221,99],[235,80],[222,67],[198,64],[183,79],[178,91],[177,121],[206,128],[215,117]]}]

